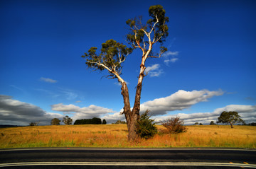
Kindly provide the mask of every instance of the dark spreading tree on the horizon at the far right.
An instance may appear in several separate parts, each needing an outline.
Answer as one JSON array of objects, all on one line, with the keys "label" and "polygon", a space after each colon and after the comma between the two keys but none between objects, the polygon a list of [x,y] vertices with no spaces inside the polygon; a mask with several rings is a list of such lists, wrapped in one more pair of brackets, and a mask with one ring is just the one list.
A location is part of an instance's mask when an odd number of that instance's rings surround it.
[{"label": "dark spreading tree on the horizon at the far right", "polygon": [[244,123],[244,121],[240,118],[240,115],[238,115],[238,112],[222,112],[220,117],[218,117],[218,123],[220,122],[230,124],[231,128],[234,128],[233,124],[235,123]]}]

